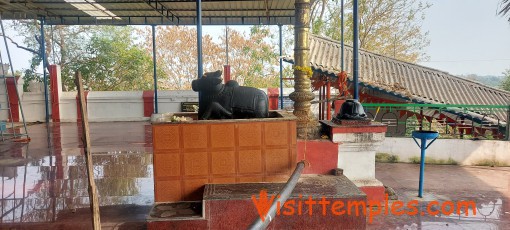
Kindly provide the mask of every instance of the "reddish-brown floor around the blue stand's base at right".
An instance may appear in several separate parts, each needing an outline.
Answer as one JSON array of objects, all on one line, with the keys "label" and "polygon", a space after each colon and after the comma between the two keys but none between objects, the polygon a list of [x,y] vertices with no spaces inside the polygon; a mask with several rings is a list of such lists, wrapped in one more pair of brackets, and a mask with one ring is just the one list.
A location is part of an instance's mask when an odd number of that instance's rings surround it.
[{"label": "reddish-brown floor around the blue stand's base at right", "polygon": [[[427,165],[423,198],[418,176],[417,164],[377,164],[376,177],[398,200],[418,200],[418,214],[376,216],[368,229],[510,229],[510,168]],[[476,205],[466,210],[459,201]]]}]

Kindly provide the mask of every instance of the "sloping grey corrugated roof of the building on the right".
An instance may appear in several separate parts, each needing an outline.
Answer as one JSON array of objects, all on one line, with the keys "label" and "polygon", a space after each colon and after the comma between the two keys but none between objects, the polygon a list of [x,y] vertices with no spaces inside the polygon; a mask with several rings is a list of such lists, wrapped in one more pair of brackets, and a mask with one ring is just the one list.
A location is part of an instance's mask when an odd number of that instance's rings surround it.
[{"label": "sloping grey corrugated roof of the building on the right", "polygon": [[[352,47],[344,46],[345,68],[352,72]],[[310,35],[310,64],[330,75],[340,72],[340,42]],[[447,72],[360,50],[360,82],[425,103],[509,105],[510,92]],[[284,60],[293,62],[292,58]],[[350,77],[352,80],[352,77]],[[506,117],[501,113],[501,120]]]}]

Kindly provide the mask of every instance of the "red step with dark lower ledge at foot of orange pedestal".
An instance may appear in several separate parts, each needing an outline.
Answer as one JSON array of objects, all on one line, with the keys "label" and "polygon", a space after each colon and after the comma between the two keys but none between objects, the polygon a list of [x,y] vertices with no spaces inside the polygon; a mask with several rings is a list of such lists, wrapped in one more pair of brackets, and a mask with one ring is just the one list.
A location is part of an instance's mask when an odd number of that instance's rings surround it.
[{"label": "red step with dark lower ledge at foot of orange pedestal", "polygon": [[[268,196],[278,194],[285,183],[206,184],[202,201],[155,203],[147,218],[147,229],[247,229],[259,214],[252,197],[260,200],[261,191]],[[302,201],[302,214],[277,215],[269,229],[365,229],[364,215],[334,215],[331,205],[322,215],[321,205],[312,215],[304,202],[366,202],[366,195],[347,177],[303,175],[288,201]],[[354,207],[358,211],[364,206]],[[298,207],[295,207],[298,210]],[[282,212],[284,209],[282,209]],[[297,211],[296,211],[297,212]]]}]

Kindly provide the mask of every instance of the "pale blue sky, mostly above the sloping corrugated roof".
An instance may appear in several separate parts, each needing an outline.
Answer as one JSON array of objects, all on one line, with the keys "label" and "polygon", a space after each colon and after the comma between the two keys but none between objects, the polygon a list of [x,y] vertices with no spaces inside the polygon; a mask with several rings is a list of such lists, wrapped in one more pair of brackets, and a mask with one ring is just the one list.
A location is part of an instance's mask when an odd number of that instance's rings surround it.
[{"label": "pale blue sky, mostly above the sloping corrugated roof", "polygon": [[[430,45],[425,53],[430,59],[419,64],[454,75],[500,76],[505,69],[510,69],[510,22],[496,13],[500,0],[428,2],[433,5],[426,11],[422,28],[429,32]],[[214,30],[218,27],[206,27],[204,33],[218,34]],[[28,68],[30,55],[12,45],[9,47],[14,68]]]}]

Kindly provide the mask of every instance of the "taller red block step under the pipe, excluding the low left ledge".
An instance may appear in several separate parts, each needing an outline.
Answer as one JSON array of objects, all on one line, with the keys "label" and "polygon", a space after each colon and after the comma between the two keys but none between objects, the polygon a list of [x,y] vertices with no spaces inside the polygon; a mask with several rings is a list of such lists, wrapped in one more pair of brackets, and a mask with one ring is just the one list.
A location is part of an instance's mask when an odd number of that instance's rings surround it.
[{"label": "taller red block step under the pipe, excluding the low left ledge", "polygon": [[[261,191],[265,190],[269,198],[283,188],[284,183],[240,183],[240,184],[207,184],[204,191],[205,218],[210,229],[247,229],[259,216],[252,197],[260,201]],[[326,215],[322,214],[320,204],[309,206],[305,201],[330,202],[326,207]],[[363,215],[335,215],[331,211],[332,204],[341,202],[347,206],[349,202],[365,202],[366,195],[345,176],[303,175],[289,197],[293,201],[294,214],[277,215],[269,225],[269,229],[365,229]],[[301,202],[302,212],[297,213]],[[354,207],[362,212],[364,206]],[[282,208],[282,213],[285,209]]]}]

